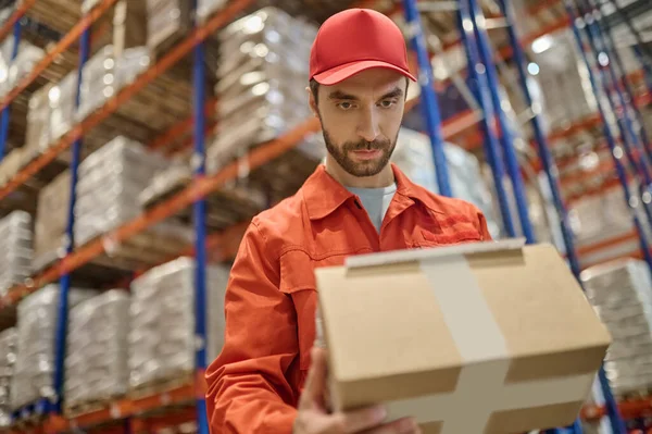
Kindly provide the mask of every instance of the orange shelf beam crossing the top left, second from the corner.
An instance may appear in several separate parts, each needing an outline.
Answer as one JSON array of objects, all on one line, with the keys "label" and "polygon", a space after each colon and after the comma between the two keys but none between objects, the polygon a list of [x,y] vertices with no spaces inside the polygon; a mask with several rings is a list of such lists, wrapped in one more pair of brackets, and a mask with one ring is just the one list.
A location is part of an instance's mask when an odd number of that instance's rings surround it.
[{"label": "orange shelf beam crossing the top left, second from the corner", "polygon": [[[2,102],[0,102],[0,110],[11,104],[11,102],[32,83],[34,83],[34,80],[37,79],[61,53],[63,53],[68,47],[79,39],[84,30],[90,27],[90,25],[100,16],[102,16],[102,14],[115,2],[116,0],[102,0],[102,2],[98,4],[90,13],[84,15],[82,20],[75,24],[71,32],[68,32],[63,39],[61,39],[52,49],[47,52],[46,57],[34,66],[32,72],[2,99]],[[34,3],[34,1],[32,3]]]}]

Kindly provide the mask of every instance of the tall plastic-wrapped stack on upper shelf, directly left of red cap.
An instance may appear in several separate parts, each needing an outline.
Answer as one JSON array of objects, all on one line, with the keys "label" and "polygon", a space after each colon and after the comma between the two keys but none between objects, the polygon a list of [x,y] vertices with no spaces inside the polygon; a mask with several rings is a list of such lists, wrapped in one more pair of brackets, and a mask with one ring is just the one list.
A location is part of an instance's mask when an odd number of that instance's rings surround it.
[{"label": "tall plastic-wrapped stack on upper shelf, directly left of red cap", "polygon": [[316,27],[275,8],[247,15],[218,34],[217,132],[206,152],[213,172],[310,116],[305,90]]}]

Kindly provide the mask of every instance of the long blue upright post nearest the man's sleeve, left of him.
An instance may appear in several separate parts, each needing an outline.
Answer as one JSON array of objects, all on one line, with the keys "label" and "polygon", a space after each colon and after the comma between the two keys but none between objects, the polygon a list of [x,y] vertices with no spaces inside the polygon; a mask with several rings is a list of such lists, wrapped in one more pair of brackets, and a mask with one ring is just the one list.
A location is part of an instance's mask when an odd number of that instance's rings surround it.
[{"label": "long blue upright post nearest the man's sleeve, left of him", "polygon": [[[197,2],[195,2],[197,10]],[[197,22],[196,22],[197,25]],[[204,47],[199,42],[195,47],[192,66],[193,87],[193,116],[195,116],[195,177],[205,175],[205,65]],[[195,368],[198,373],[206,369],[206,200],[199,199],[193,203],[192,218],[195,223],[195,333],[198,342],[195,354]],[[203,396],[197,397],[197,424],[200,434],[209,434],[209,416],[206,400]]]}]

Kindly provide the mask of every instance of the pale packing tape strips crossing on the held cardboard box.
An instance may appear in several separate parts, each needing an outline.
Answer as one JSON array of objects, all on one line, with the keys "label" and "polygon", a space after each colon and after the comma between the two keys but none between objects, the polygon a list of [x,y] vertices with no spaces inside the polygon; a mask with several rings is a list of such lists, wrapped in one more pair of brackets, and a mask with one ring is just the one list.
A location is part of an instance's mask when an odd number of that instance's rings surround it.
[{"label": "pale packing tape strips crossing on the held cardboard box", "polygon": [[[586,398],[593,374],[505,384],[506,342],[463,255],[424,259],[421,268],[463,359],[450,394],[386,402],[389,420],[443,421],[442,434],[481,433],[494,411],[574,402]],[[473,417],[468,409],[473,408]]]}]

